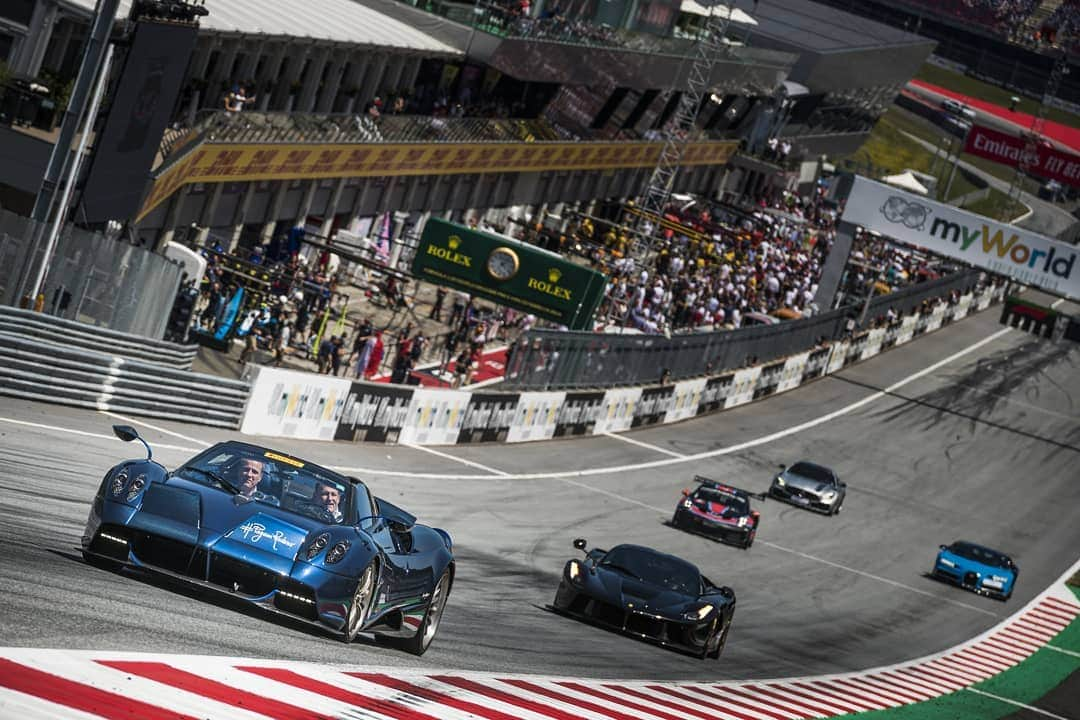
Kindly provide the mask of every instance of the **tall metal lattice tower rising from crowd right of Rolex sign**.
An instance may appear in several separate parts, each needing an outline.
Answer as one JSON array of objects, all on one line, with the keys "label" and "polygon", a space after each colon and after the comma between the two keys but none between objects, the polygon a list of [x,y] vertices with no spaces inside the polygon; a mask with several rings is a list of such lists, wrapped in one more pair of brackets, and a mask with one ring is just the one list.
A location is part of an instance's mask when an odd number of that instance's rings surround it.
[{"label": "tall metal lattice tower rising from crowd right of Rolex sign", "polygon": [[[649,175],[649,182],[638,195],[637,205],[624,208],[623,225],[629,230],[630,240],[624,257],[634,263],[635,269],[647,267],[651,261],[653,246],[662,234],[660,219],[671,198],[683,154],[687,145],[699,134],[696,122],[702,103],[712,90],[710,78],[713,76],[713,68],[729,53],[725,36],[731,22],[734,0],[724,2],[724,12],[717,13],[717,5],[718,3],[714,3],[710,8],[702,33],[693,44],[691,54],[684,58],[684,63],[690,62],[686,89],[662,130],[663,146]],[[629,310],[629,302],[623,312],[618,312],[615,303],[611,303],[607,313],[608,321],[624,320]]]}]

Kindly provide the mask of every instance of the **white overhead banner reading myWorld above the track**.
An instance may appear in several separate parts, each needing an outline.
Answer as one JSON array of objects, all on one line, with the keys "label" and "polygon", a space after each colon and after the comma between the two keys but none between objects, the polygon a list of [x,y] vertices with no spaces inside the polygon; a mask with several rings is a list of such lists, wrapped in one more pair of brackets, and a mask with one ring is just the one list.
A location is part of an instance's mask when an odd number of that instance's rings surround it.
[{"label": "white overhead banner reading myWorld above the track", "polygon": [[855,176],[843,220],[1080,299],[1077,247]]}]

